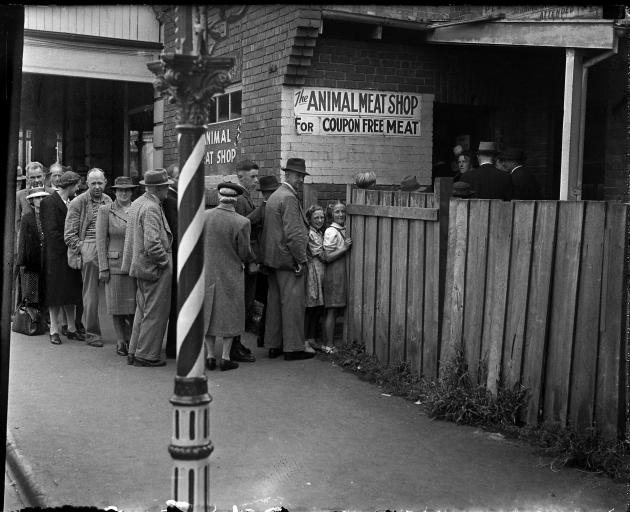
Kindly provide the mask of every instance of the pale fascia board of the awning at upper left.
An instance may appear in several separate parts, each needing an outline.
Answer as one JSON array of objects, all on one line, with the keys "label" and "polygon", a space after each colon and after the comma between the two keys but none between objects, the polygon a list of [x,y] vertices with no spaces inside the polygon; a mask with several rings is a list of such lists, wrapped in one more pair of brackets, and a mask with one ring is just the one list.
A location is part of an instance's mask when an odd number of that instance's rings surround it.
[{"label": "pale fascia board of the awning at upper left", "polygon": [[153,82],[147,62],[160,43],[25,30],[22,71],[126,82]]}]

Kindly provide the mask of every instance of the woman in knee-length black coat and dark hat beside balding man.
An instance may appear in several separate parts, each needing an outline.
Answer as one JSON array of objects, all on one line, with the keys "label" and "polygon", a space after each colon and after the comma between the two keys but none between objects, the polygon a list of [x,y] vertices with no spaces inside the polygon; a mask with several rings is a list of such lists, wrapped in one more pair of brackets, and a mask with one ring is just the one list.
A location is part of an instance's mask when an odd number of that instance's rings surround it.
[{"label": "woman in knee-length black coat and dark hat beside balding man", "polygon": [[59,179],[59,190],[42,200],[41,220],[46,239],[44,267],[46,270],[46,295],[44,302],[50,310],[50,342],[60,345],[61,312],[66,314],[68,339],[85,341],[76,331],[75,304],[81,302],[81,271],[68,266],[68,246],[63,240],[63,230],[68,212],[69,198],[76,191],[80,177],[66,171]]}]

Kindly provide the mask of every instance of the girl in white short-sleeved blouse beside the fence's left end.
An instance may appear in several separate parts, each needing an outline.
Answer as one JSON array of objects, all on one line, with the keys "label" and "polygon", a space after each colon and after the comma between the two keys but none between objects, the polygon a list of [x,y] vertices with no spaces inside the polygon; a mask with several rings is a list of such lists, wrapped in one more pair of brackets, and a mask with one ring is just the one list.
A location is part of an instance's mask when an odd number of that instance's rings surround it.
[{"label": "girl in white short-sleeved blouse beside the fence's left end", "polygon": [[324,277],[324,343],[333,347],[333,336],[337,316],[346,307],[347,279],[346,258],[352,240],[346,234],[346,205],[340,201],[332,204],[332,224],[324,233],[324,251],[326,251],[326,275]]}]

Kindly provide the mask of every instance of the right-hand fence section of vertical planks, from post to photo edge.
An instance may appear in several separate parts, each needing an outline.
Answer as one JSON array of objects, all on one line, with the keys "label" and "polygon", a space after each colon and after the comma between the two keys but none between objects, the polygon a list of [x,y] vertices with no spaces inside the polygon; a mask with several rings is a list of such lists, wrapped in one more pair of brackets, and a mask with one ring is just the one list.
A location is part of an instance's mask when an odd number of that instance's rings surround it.
[{"label": "right-hand fence section of vertical planks, from post to photo edge", "polygon": [[451,200],[441,364],[456,348],[523,420],[623,432],[627,206]]}]

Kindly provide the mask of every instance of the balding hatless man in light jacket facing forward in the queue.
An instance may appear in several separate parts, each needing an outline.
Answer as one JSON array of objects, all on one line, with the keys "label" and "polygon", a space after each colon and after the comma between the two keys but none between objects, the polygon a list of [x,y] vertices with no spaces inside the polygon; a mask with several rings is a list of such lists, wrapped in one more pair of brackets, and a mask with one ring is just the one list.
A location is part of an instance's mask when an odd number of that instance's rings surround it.
[{"label": "balding hatless man in light jacket facing forward in the queue", "polygon": [[95,167],[87,174],[88,189],[70,201],[63,238],[70,249],[81,251],[81,277],[83,278],[83,325],[92,345],[102,347],[101,325],[98,319],[98,253],[96,251],[96,214],[102,205],[110,204],[104,194],[105,173]]}]

